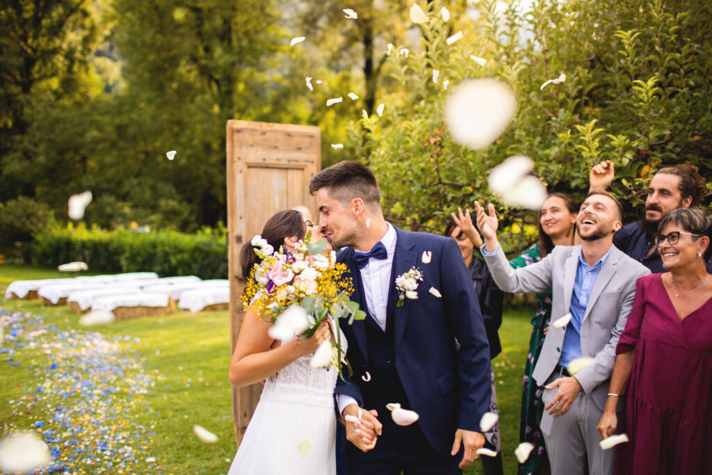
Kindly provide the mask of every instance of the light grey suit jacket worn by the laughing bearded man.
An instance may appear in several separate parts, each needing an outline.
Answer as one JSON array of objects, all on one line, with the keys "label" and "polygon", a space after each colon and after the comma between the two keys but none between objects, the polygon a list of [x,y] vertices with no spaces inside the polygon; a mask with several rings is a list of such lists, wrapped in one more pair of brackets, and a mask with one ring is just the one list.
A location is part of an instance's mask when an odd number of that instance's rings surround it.
[{"label": "light grey suit jacket worn by the laughing bearded man", "polygon": [[[552,291],[551,321],[569,312],[581,246],[556,246],[544,259],[530,266],[513,269],[500,249],[484,256],[497,286],[506,292]],[[592,395],[602,410],[613,372],[616,345],[633,306],[635,283],[650,271],[629,258],[617,247],[603,264],[593,286],[581,323],[581,355],[595,362],[575,377],[585,394]],[[543,386],[553,373],[564,343],[565,328],[548,330],[533,376]]]}]

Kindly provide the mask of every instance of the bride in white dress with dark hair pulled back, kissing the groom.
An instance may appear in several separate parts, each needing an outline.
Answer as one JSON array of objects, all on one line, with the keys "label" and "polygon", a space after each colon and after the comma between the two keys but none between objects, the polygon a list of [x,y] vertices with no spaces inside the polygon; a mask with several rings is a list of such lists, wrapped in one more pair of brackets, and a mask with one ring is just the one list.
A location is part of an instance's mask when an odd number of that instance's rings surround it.
[{"label": "bride in white dress with dark hair pulled back, kissing the groom", "polygon": [[[302,214],[288,210],[268,219],[262,237],[274,249],[283,246],[293,251],[306,231]],[[314,239],[320,239],[316,226],[311,231]],[[260,261],[249,242],[240,261],[243,276],[249,276]],[[242,320],[230,382],[234,387],[266,382],[228,475],[335,474],[337,371],[309,366],[311,355],[329,339],[328,324],[323,322],[308,340],[283,341],[268,335],[271,326],[251,309]]]}]

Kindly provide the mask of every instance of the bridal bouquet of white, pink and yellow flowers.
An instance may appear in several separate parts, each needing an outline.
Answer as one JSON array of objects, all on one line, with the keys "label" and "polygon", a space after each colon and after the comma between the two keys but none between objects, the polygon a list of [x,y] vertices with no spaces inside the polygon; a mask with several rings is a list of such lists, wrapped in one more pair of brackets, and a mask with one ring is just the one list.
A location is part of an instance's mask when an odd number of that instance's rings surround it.
[{"label": "bridal bouquet of white, pink and yellow flowers", "polygon": [[[269,335],[277,340],[310,338],[320,323],[331,318],[331,338],[315,351],[312,367],[333,365],[341,372],[345,361],[341,349],[340,320],[365,318],[358,304],[349,300],[353,287],[350,278],[343,278],[347,266],[336,262],[336,253],[323,254],[325,239],[312,243],[311,231],[295,245],[294,253],[275,251],[259,234],[251,244],[262,259],[255,264],[241,296],[244,307],[251,308],[264,320],[274,323]],[[348,362],[346,362],[348,365]]]}]

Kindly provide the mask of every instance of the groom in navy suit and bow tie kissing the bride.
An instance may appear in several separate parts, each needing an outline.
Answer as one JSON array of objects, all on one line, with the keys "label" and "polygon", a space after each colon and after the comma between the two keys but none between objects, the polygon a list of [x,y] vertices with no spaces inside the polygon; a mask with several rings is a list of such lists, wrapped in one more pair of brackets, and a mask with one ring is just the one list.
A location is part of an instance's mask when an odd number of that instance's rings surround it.
[{"label": "groom in navy suit and bow tie kissing the bride", "polygon": [[[454,239],[387,223],[376,178],[355,162],[316,174],[319,225],[349,267],[353,301],[365,320],[342,325],[351,377],[335,392],[346,422],[349,474],[459,474],[478,457],[478,432],[490,404],[489,347],[482,316]],[[426,257],[424,256],[426,254]],[[399,299],[396,279],[422,272]],[[401,289],[404,290],[404,289]],[[402,292],[401,292],[402,293]],[[419,414],[395,424],[386,404]]]}]

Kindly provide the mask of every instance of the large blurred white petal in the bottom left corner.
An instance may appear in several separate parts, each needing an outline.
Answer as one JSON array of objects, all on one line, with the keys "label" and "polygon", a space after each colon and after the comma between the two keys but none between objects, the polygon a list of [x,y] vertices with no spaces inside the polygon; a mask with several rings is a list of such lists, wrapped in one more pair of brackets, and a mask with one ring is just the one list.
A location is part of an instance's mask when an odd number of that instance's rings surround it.
[{"label": "large blurred white petal in the bottom left corner", "polygon": [[34,471],[51,461],[47,444],[35,432],[16,432],[0,441],[0,471]]}]

